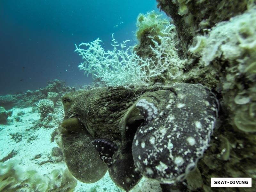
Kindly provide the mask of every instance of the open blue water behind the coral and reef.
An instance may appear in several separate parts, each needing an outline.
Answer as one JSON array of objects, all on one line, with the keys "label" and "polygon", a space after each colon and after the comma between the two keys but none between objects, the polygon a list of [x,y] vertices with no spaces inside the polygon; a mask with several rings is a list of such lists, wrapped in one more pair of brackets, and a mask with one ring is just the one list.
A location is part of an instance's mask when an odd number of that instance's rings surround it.
[{"label": "open blue water behind the coral and reef", "polygon": [[98,37],[110,49],[118,42],[136,43],[139,13],[158,11],[156,0],[1,0],[0,95],[44,88],[48,80],[68,86],[90,84],[77,65],[74,44]]}]

